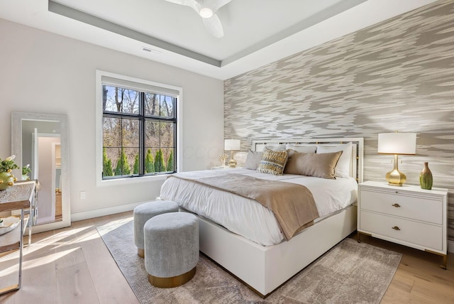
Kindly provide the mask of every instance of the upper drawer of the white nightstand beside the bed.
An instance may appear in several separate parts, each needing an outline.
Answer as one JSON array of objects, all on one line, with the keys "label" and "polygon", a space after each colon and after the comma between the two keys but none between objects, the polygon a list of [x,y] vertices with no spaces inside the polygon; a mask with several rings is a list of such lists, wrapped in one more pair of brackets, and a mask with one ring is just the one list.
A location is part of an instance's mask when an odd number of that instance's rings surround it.
[{"label": "upper drawer of the white nightstand beside the bed", "polygon": [[360,202],[361,210],[443,224],[443,202],[441,200],[428,200],[423,197],[361,190]]}]

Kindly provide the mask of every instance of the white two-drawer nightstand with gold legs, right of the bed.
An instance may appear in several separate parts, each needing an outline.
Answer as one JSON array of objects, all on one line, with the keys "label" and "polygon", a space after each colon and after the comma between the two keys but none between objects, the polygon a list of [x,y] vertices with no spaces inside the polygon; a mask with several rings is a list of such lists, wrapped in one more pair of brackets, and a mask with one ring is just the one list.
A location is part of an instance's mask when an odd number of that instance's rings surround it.
[{"label": "white two-drawer nightstand with gold legs, right of the bed", "polygon": [[448,189],[423,190],[368,181],[358,190],[358,241],[367,234],[443,256],[448,254]]}]

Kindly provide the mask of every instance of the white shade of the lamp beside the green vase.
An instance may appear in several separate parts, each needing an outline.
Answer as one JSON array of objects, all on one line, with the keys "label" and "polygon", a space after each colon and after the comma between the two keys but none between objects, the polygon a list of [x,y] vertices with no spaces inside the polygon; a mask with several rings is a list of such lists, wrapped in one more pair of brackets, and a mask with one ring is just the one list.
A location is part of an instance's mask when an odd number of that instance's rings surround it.
[{"label": "white shade of the lamp beside the green vase", "polygon": [[416,133],[381,133],[378,134],[378,153],[416,154]]}]

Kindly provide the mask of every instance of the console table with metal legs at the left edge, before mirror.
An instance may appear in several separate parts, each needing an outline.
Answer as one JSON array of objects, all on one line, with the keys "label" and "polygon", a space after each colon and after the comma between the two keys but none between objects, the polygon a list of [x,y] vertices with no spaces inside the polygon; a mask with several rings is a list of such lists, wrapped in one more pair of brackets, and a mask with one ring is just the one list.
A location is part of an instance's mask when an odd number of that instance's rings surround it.
[{"label": "console table with metal legs at the left edge, before mirror", "polygon": [[21,223],[18,225],[20,228],[16,227],[0,236],[0,253],[19,249],[18,283],[4,288],[0,286],[0,295],[21,288],[23,232],[28,222],[28,217],[24,217],[24,210],[28,210],[28,215],[31,214],[34,195],[35,181],[16,183],[0,191],[0,212],[21,210]]}]

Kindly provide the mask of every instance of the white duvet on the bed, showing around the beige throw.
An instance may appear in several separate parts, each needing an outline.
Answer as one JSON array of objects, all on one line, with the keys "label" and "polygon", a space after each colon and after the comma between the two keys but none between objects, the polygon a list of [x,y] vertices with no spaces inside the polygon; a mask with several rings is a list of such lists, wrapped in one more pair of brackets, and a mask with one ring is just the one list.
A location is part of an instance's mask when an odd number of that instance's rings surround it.
[{"label": "white duvet on the bed, showing around the beige throw", "polygon": [[[314,196],[319,218],[351,205],[357,197],[358,183],[354,178],[328,180],[304,175],[270,175],[248,169],[222,172],[304,185]],[[258,244],[269,246],[284,240],[272,211],[255,200],[172,177],[167,178],[162,185],[160,198],[173,200],[184,209],[211,219]]]}]

